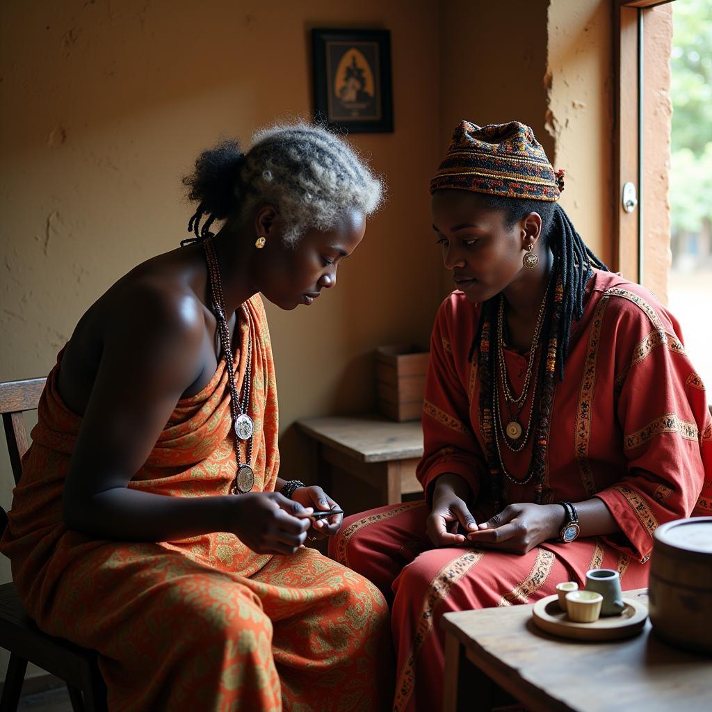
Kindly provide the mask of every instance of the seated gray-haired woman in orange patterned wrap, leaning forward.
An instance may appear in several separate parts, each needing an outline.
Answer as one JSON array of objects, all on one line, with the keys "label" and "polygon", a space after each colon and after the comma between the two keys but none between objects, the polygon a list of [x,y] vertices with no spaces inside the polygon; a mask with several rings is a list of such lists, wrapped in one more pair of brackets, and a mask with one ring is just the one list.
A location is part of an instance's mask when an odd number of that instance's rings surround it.
[{"label": "seated gray-haired woman in orange patterned wrap, leaning forward", "polygon": [[388,706],[386,604],[303,545],[336,533],[337,503],[278,476],[258,295],[293,309],[333,287],[382,184],[305,124],[222,142],[184,182],[194,236],[58,355],[1,550],[39,627],[98,651],[110,709]]}]

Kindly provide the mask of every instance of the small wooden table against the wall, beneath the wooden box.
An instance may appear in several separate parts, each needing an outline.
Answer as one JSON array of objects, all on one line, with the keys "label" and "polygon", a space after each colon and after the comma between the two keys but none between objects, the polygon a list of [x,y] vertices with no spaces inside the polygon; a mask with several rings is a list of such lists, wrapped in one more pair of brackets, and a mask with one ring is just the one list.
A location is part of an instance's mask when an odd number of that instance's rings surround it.
[{"label": "small wooden table against the wall, beneath the wooden box", "polygon": [[335,469],[377,488],[380,501],[373,506],[395,504],[405,493],[422,492],[415,477],[423,454],[419,420],[399,423],[377,415],[333,416],[298,420],[297,425],[318,449],[319,480],[325,489],[331,489],[329,478]]}]

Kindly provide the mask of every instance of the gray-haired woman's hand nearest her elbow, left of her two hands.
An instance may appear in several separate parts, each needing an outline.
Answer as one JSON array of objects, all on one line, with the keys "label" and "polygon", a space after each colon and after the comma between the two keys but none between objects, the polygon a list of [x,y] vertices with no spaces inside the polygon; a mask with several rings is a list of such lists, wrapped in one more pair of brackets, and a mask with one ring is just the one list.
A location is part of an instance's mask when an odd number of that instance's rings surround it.
[{"label": "gray-haired woman's hand nearest her elbow, left of her two hands", "polygon": [[231,531],[258,554],[295,553],[311,525],[313,508],[278,492],[251,492],[231,495]]}]

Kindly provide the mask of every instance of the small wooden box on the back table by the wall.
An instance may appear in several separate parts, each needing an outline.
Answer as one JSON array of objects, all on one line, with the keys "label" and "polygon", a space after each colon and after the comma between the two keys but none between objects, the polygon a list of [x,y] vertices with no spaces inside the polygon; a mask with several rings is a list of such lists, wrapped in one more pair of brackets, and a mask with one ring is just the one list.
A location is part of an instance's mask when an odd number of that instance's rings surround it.
[{"label": "small wooden box on the back table by the wall", "polygon": [[429,352],[415,346],[376,350],[378,409],[392,420],[419,420],[423,412]]}]

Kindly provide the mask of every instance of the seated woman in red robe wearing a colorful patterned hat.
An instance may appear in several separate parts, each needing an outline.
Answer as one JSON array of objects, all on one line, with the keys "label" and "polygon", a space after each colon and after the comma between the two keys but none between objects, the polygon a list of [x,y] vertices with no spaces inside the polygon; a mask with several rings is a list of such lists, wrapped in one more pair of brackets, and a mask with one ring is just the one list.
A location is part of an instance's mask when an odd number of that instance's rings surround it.
[{"label": "seated woman in red robe wearing a colorful patterned hat", "polygon": [[599,567],[645,586],[655,528],[712,513],[712,424],[679,324],[586,248],[562,188],[518,122],[462,122],[431,182],[456,291],[431,338],[426,498],[347,518],[330,545],[392,604],[394,711],[441,705],[445,612]]}]

